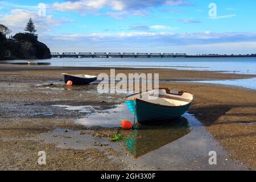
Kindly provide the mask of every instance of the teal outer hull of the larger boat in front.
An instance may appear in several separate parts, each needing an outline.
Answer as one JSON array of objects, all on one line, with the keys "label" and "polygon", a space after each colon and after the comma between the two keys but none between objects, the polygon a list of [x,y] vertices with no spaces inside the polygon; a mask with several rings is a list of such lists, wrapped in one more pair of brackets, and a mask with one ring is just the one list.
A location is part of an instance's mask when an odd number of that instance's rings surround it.
[{"label": "teal outer hull of the larger boat in front", "polygon": [[183,115],[191,103],[184,106],[170,107],[155,105],[142,100],[126,100],[126,105],[135,114],[138,123],[142,125],[152,125],[159,122],[171,122],[172,119]]}]

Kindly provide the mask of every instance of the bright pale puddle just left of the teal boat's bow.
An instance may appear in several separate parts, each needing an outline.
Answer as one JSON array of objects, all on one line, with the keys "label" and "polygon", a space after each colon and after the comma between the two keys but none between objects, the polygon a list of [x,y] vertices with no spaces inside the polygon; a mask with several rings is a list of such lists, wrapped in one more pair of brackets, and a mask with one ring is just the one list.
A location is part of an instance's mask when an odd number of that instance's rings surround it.
[{"label": "bright pale puddle just left of the teal boat's bow", "polygon": [[76,123],[85,126],[119,127],[122,119],[133,121],[133,114],[125,104],[115,105],[112,109],[98,111],[86,118],[77,119]]}]

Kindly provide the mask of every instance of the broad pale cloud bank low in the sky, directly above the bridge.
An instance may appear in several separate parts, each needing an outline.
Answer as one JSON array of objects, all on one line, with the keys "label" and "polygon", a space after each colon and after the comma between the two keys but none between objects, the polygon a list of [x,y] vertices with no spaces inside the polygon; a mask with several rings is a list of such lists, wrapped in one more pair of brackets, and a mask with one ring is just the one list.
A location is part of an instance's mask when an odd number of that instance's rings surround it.
[{"label": "broad pale cloud bank low in the sky, directly above the bridge", "polygon": [[170,52],[171,50],[196,54],[255,53],[256,49],[256,32],[52,34],[40,38],[52,52]]}]

